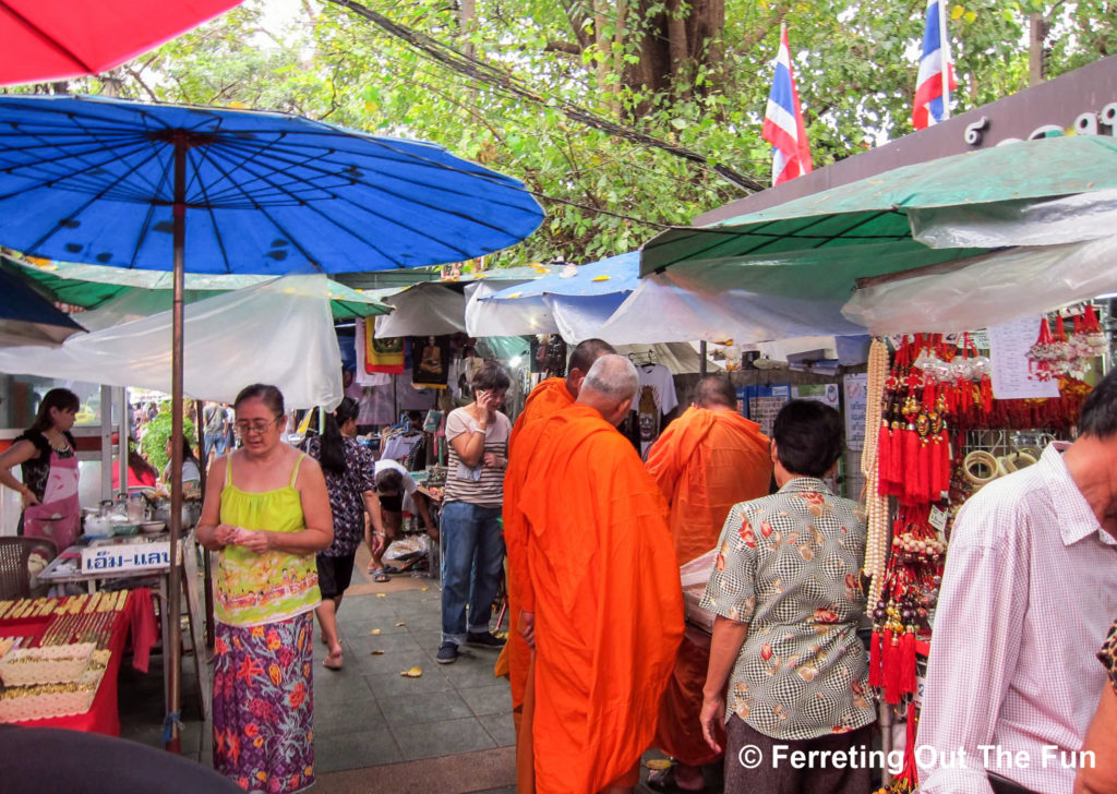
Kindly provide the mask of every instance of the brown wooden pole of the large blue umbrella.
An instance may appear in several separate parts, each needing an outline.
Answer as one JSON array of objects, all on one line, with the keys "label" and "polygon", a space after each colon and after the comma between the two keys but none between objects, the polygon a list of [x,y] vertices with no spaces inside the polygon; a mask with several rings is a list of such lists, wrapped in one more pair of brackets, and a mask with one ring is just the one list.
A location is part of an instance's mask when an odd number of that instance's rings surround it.
[{"label": "brown wooden pole of the large blue umbrella", "polygon": [[187,239],[187,151],[188,133],[174,133],[174,297],[172,309],[173,342],[171,348],[171,576],[168,585],[166,637],[171,647],[163,649],[171,666],[168,692],[168,715],[163,745],[172,753],[181,750],[179,738],[181,710],[181,648],[179,629],[182,570],[179,566],[179,542],[182,538],[182,293],[185,281],[183,255]]}]

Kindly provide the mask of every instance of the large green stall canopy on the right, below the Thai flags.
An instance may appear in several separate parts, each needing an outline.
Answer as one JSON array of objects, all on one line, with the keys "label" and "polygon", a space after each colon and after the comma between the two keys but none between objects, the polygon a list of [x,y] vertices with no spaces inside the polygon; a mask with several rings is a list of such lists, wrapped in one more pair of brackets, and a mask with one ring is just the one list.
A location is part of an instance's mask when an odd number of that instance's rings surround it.
[{"label": "large green stall canopy on the right, below the Thai flags", "polygon": [[[831,249],[888,246],[878,250],[895,256],[887,264],[867,261],[877,272],[860,275],[907,270],[944,258],[913,236],[924,213],[1115,188],[1117,141],[1027,141],[907,165],[713,227],[672,229],[643,246],[640,269],[648,275],[679,265],[755,262],[768,271],[767,288],[786,289],[805,280],[803,267],[814,266],[811,279],[827,268]],[[949,258],[972,253],[956,250]]]}]

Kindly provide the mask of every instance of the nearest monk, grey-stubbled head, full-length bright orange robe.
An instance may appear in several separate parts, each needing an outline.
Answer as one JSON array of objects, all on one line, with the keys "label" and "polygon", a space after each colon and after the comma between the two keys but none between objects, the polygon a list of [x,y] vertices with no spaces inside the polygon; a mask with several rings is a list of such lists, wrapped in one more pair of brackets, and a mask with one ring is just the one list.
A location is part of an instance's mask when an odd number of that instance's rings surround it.
[{"label": "nearest monk, grey-stubbled head, full-length bright orange robe", "polygon": [[638,383],[628,358],[598,358],[575,404],[524,428],[509,463],[523,488],[505,542],[534,647],[521,792],[631,790],[675,664],[682,593],[667,504],[615,430]]}]

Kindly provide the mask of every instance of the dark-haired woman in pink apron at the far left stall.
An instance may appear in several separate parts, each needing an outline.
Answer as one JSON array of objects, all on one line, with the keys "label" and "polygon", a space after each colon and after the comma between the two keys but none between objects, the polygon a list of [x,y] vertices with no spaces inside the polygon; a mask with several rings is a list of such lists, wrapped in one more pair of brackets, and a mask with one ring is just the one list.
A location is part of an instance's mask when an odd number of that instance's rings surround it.
[{"label": "dark-haired woman in pink apron at the far left stall", "polygon": [[[80,405],[68,389],[51,389],[35,424],[0,455],[0,484],[22,497],[22,534],[50,539],[59,552],[74,545],[82,526],[77,450],[69,432]],[[16,466],[22,466],[22,482],[11,473]]]}]

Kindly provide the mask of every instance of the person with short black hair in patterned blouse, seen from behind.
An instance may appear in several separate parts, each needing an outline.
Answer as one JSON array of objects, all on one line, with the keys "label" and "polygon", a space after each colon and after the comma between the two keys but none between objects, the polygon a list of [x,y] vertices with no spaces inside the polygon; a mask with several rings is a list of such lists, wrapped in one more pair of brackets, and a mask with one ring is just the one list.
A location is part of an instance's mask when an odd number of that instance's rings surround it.
[{"label": "person with short black hair in patterned blouse, seen from behind", "polygon": [[[784,405],[772,432],[780,490],[735,505],[722,530],[701,604],[718,615],[701,723],[717,750],[714,726],[726,723],[726,792],[869,791],[863,760],[824,760],[867,756],[876,720],[857,634],[866,526],[857,504],[822,481],[841,449],[837,411],[804,400]],[[806,755],[815,759],[809,768],[793,768],[776,749],[828,755]]]}]

